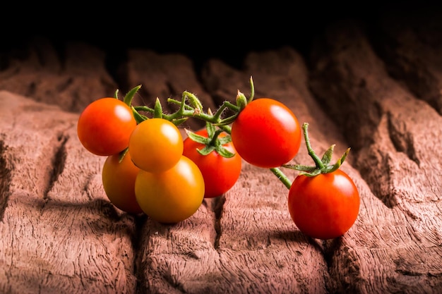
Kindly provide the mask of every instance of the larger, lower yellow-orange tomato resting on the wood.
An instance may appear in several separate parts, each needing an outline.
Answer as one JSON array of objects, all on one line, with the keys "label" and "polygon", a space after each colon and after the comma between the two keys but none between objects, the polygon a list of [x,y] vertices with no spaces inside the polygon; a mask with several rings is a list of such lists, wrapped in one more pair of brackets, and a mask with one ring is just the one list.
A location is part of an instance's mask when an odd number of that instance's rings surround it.
[{"label": "larger, lower yellow-orange tomato resting on the wood", "polygon": [[135,195],[143,212],[160,223],[177,223],[194,214],[204,199],[204,178],[191,159],[181,156],[162,173],[139,171]]}]

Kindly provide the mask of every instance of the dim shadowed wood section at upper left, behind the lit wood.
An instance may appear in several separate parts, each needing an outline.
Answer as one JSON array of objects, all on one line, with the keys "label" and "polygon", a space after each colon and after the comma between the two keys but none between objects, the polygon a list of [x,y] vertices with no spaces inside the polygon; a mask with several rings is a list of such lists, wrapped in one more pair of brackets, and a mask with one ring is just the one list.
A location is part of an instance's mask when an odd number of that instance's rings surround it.
[{"label": "dim shadowed wood section at upper left, behind the lit wood", "polygon": [[90,102],[114,94],[117,83],[106,68],[106,54],[83,42],[68,42],[57,51],[46,38],[28,47],[0,54],[0,89],[38,102],[82,111]]}]

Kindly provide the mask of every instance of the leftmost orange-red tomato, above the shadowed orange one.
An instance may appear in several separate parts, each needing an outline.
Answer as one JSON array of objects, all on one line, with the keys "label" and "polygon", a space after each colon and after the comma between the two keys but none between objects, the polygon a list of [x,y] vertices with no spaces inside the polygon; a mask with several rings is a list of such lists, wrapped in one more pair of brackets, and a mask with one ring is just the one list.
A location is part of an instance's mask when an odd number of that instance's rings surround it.
[{"label": "leftmost orange-red tomato, above the shadowed orange one", "polygon": [[95,155],[117,154],[129,145],[136,127],[131,108],[119,99],[106,97],[95,100],[78,118],[78,139]]}]

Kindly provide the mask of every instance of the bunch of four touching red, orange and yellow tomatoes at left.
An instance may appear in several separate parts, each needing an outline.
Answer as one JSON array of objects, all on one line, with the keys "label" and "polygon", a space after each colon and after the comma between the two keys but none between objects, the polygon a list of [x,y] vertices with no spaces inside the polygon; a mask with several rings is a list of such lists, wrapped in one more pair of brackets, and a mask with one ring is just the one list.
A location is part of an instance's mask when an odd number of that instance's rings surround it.
[{"label": "bunch of four touching red, orange and yellow tomatoes at left", "polygon": [[129,105],[109,97],[85,108],[77,131],[88,151],[107,156],[102,184],[115,207],[176,223],[203,202],[203,175],[184,157],[183,138],[174,123],[163,118],[137,123]]}]

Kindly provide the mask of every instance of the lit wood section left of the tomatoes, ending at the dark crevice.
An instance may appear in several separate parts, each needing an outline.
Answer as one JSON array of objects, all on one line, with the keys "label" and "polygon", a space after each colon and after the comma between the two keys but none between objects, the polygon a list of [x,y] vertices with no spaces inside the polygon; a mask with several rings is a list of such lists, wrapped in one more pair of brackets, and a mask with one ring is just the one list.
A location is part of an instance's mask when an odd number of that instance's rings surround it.
[{"label": "lit wood section left of the tomatoes, ending at the dark crevice", "polygon": [[106,200],[77,114],[0,92],[0,291],[131,293],[135,223]]}]

